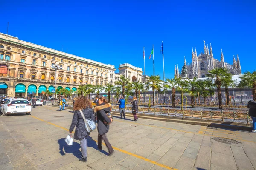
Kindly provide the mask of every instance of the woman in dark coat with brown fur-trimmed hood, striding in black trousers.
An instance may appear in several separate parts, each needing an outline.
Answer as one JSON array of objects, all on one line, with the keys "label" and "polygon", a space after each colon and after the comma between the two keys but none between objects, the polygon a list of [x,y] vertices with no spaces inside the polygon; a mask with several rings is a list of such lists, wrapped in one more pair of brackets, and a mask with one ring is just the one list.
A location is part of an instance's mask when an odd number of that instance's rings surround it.
[{"label": "woman in dark coat with brown fur-trimmed hood, striding in black trousers", "polygon": [[111,111],[111,104],[106,102],[104,97],[99,98],[99,105],[94,108],[94,112],[97,113],[98,120],[98,148],[102,150],[102,140],[104,140],[106,147],[108,148],[108,156],[113,155],[114,150],[111,144],[108,142],[106,133],[108,133],[109,125],[105,125],[103,122],[110,123],[111,119],[108,118],[106,113]]}]

